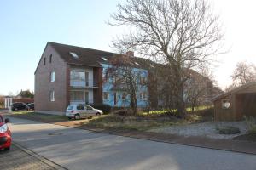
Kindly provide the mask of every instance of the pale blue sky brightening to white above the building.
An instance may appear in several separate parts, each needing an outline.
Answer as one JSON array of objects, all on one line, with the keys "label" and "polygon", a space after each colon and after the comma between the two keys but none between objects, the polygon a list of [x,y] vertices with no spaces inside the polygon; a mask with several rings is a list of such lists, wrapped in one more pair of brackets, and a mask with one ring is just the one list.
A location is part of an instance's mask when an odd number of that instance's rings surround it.
[{"label": "pale blue sky brightening to white above the building", "polygon": [[[0,94],[34,87],[34,71],[47,42],[113,51],[113,37],[124,31],[108,26],[109,14],[124,0],[0,1]],[[226,54],[216,56],[212,72],[218,86],[230,85],[240,61],[256,65],[256,1],[208,0],[220,16]]]}]

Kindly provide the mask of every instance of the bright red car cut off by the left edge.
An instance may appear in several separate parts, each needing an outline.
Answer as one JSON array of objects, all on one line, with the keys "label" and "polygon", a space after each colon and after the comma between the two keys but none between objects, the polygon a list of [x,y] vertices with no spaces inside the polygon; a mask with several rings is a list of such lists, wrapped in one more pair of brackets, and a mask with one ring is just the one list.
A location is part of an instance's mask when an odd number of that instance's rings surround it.
[{"label": "bright red car cut off by the left edge", "polygon": [[0,150],[9,150],[12,143],[8,122],[8,118],[3,120],[3,116],[0,115]]}]

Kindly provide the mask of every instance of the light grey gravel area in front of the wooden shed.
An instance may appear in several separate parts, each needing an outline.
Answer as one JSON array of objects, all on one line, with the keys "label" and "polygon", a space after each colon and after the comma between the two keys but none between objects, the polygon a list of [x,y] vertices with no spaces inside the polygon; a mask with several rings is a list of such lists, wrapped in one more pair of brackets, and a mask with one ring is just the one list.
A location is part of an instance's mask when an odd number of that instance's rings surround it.
[{"label": "light grey gravel area in front of the wooden shed", "polygon": [[[238,127],[241,133],[237,134],[218,134],[217,127]],[[189,125],[162,127],[152,129],[149,132],[154,133],[171,133],[185,137],[189,136],[201,136],[211,139],[232,139],[241,134],[247,133],[246,122],[201,122]]]}]

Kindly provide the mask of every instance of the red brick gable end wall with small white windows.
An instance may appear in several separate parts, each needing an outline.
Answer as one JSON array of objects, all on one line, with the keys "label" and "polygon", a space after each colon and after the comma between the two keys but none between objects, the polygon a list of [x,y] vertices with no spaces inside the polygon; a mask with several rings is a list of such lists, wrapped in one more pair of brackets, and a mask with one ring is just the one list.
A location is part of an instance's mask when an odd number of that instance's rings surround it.
[{"label": "red brick gable end wall with small white windows", "polygon": [[[51,63],[49,62],[50,55],[52,55]],[[55,71],[55,82],[50,82],[51,71]],[[48,44],[35,71],[36,111],[66,111],[69,95],[67,94],[68,75],[67,63]],[[55,91],[55,101],[50,101],[51,90]]]}]

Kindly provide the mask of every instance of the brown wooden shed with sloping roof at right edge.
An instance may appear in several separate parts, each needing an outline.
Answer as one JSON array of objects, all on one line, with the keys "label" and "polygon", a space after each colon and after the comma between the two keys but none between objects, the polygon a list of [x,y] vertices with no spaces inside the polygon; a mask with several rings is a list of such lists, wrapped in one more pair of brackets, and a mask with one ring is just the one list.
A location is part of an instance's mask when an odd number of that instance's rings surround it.
[{"label": "brown wooden shed with sloping roof at right edge", "polygon": [[240,121],[243,116],[256,116],[256,82],[234,88],[212,101],[215,121]]}]

